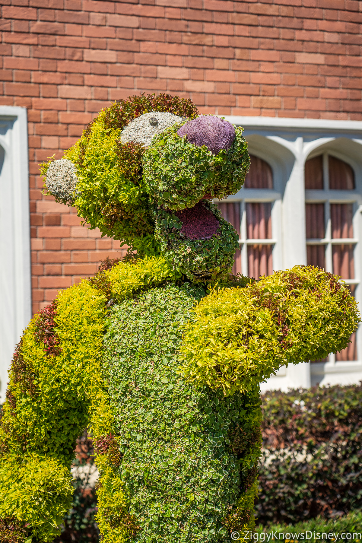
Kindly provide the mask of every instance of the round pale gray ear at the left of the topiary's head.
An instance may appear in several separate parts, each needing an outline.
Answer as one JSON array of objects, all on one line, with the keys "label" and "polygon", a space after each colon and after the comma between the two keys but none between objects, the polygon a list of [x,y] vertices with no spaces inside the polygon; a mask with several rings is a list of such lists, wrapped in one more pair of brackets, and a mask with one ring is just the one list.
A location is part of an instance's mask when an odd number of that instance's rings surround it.
[{"label": "round pale gray ear at the left of the topiary's head", "polygon": [[53,196],[63,204],[73,204],[77,175],[73,162],[60,159],[52,162],[47,171],[45,185]]}]

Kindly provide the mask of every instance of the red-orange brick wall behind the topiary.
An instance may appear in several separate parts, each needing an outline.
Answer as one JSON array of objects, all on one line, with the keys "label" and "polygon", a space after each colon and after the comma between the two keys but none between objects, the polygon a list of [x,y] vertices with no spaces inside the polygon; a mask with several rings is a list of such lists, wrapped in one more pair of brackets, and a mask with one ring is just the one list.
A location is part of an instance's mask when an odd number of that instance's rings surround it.
[{"label": "red-orange brick wall behind the topiary", "polygon": [[112,100],[168,91],[219,115],[362,118],[357,0],[0,5],[0,104],[28,109],[34,311],[121,252],[44,197],[38,171]]}]

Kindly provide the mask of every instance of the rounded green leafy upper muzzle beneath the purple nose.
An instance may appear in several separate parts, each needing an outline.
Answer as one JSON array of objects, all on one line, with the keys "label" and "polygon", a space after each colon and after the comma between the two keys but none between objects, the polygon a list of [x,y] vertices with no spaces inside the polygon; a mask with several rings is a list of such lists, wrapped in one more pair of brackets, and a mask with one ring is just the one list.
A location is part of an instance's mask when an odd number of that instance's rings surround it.
[{"label": "rounded green leafy upper muzzle beneath the purple nose", "polygon": [[177,135],[181,125],[155,135],[143,155],[143,182],[151,202],[178,211],[193,207],[206,194],[221,199],[236,193],[250,166],[243,128],[234,127],[230,149],[214,155],[206,146],[197,147]]}]

